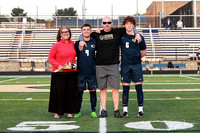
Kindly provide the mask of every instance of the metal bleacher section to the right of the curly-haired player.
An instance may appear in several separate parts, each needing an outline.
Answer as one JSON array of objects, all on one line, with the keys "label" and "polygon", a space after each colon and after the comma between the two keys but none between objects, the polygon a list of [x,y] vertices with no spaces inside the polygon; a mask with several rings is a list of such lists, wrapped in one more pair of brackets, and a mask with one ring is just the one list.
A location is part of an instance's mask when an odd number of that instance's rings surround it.
[{"label": "metal bleacher section to the right of the curly-haired player", "polygon": [[142,35],[147,45],[145,60],[188,61],[196,56],[200,47],[200,29],[152,30],[155,51],[152,50],[150,33],[143,30]]}]

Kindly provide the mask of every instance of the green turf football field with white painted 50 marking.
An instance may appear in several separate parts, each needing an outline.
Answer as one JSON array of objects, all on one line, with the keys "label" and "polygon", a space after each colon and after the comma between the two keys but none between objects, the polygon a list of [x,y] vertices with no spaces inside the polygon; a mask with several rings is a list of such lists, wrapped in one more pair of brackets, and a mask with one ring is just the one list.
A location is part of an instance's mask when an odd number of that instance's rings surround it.
[{"label": "green turf football field with white painted 50 marking", "polygon": [[[49,89],[49,83],[50,76],[0,76],[0,87],[46,84],[38,88]],[[131,88],[134,90],[134,85]],[[136,118],[135,92],[130,92],[130,118],[120,119],[113,117],[112,93],[108,93],[106,119],[90,117],[87,92],[84,93],[82,117],[69,119],[64,115],[54,119],[54,114],[48,112],[48,92],[0,92],[0,132],[200,132],[200,91],[194,91],[200,89],[199,75],[144,75],[143,89],[142,119]],[[99,93],[97,96],[98,113]],[[119,109],[122,113],[121,100]]]}]

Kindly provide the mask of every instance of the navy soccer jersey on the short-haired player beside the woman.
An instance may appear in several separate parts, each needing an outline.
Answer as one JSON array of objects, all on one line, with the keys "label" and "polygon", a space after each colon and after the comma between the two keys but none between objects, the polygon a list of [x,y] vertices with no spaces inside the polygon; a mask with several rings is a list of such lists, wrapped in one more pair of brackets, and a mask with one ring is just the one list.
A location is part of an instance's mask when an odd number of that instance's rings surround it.
[{"label": "navy soccer jersey on the short-haired player beside the woman", "polygon": [[77,53],[77,71],[79,75],[95,75],[95,50],[96,41],[90,39],[86,41],[87,47],[84,46],[83,50],[79,50],[79,41],[75,43]]}]

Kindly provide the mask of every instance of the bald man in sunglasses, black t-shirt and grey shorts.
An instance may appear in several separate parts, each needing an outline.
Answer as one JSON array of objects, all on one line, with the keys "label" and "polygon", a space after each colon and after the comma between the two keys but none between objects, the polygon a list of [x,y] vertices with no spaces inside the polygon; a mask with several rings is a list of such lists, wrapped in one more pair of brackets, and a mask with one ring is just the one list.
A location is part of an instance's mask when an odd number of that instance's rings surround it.
[{"label": "bald man in sunglasses, black t-shirt and grey shorts", "polygon": [[[97,42],[96,53],[96,76],[98,88],[100,89],[100,100],[102,105],[99,117],[107,117],[106,100],[107,87],[112,88],[112,98],[114,104],[114,117],[121,118],[119,106],[119,45],[121,36],[126,32],[125,28],[112,28],[113,22],[109,17],[104,17],[102,21],[103,30],[100,33],[92,32],[91,37]],[[136,33],[136,32],[135,32]],[[138,32],[137,32],[138,33]],[[136,35],[138,42],[141,41],[139,34]],[[79,48],[85,45],[81,41]]]}]

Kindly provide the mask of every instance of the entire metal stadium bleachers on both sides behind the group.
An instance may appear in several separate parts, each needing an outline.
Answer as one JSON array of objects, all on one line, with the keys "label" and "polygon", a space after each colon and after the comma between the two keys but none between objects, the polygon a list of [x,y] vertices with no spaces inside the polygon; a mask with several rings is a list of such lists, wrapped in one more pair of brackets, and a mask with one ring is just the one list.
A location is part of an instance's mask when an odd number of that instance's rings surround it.
[{"label": "entire metal stadium bleachers on both sides behind the group", "polygon": [[[80,29],[71,28],[71,32],[72,41],[76,41],[81,33]],[[139,32],[144,36],[147,45],[147,55],[143,61],[166,63],[194,60],[200,47],[198,29],[153,29],[152,39],[149,29],[139,30]],[[0,30],[0,61],[21,62],[19,71],[49,71],[48,53],[52,44],[57,42],[56,35],[56,29],[28,29],[23,32],[22,30]],[[35,65],[26,66],[23,62],[25,64],[34,62]]]}]

